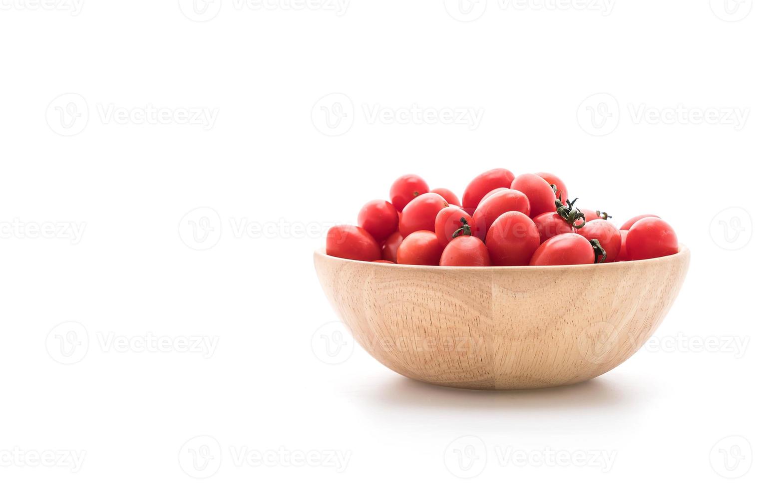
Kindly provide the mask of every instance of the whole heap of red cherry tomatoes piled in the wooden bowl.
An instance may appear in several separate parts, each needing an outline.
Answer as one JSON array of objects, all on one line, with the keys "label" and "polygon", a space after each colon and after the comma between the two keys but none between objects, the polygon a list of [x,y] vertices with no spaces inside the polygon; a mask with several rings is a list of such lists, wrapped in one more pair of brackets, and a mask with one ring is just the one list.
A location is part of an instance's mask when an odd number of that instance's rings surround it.
[{"label": "whole heap of red cherry tomatoes piled in the wooden bowl", "polygon": [[551,173],[481,173],[463,192],[429,190],[400,176],[391,202],[369,201],[357,226],[329,229],[326,254],[407,265],[581,265],[646,260],[678,253],[673,228],[642,214],[616,228],[606,212],[576,204]]}]

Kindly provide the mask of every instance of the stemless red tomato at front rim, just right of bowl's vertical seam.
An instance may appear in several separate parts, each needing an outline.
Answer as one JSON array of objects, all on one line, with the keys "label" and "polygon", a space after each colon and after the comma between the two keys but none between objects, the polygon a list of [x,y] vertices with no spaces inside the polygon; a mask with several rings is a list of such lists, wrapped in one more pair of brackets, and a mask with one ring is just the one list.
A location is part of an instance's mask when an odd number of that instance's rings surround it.
[{"label": "stemless red tomato at front rim, just right of bowl's vertical seam", "polygon": [[510,210],[492,223],[486,233],[486,248],[494,265],[528,265],[539,248],[539,230],[525,213]]}]

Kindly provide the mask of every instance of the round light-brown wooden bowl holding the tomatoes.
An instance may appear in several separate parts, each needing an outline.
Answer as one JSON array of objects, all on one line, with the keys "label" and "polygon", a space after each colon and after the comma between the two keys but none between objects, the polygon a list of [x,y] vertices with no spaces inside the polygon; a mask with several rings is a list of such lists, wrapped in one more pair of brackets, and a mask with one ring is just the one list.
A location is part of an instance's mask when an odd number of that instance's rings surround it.
[{"label": "round light-brown wooden bowl holding the tomatoes", "polygon": [[690,253],[569,266],[416,266],[316,251],[326,297],[394,372],[469,389],[575,384],[628,360],[655,332]]}]

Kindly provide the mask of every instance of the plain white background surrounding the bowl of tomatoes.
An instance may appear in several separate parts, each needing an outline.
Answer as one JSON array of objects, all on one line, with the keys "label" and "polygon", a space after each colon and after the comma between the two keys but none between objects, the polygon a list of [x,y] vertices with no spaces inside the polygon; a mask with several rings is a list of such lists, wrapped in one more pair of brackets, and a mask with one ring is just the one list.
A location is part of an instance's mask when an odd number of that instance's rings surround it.
[{"label": "plain white background surrounding the bowl of tomatoes", "polygon": [[[3,487],[755,487],[751,0],[71,2],[0,0]],[[519,392],[327,350],[328,226],[492,167],[674,226],[653,340]]]}]

